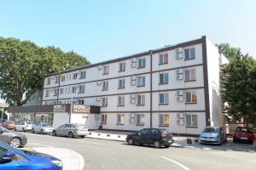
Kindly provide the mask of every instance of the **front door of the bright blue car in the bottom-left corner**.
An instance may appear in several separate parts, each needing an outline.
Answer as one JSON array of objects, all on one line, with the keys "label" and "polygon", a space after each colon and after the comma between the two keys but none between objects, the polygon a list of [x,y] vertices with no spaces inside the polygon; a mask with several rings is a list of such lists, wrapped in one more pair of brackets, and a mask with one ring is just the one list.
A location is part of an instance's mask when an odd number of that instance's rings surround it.
[{"label": "front door of the bright blue car in the bottom-left corner", "polygon": [[[9,151],[0,146],[0,159],[2,160],[3,153]],[[4,170],[20,170],[19,162],[16,160],[13,161],[0,161],[0,169]]]}]

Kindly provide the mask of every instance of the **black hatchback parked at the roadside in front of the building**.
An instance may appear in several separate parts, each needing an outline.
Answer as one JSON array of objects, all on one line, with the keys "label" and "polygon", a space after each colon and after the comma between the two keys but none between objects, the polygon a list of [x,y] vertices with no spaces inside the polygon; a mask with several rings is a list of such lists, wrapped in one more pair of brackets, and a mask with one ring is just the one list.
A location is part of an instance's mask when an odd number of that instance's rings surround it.
[{"label": "black hatchback parked at the roadside in front of the building", "polygon": [[155,148],[164,145],[169,148],[173,144],[172,134],[159,128],[144,128],[137,133],[127,135],[128,144],[154,144]]}]

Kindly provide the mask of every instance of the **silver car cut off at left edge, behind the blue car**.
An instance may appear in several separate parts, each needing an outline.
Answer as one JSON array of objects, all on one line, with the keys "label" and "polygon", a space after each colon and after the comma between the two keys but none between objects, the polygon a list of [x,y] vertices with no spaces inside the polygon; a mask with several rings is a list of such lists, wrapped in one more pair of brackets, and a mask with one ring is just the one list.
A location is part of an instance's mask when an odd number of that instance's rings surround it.
[{"label": "silver car cut off at left edge, behind the blue car", "polygon": [[27,142],[26,135],[9,131],[4,127],[0,127],[0,141],[19,148]]}]

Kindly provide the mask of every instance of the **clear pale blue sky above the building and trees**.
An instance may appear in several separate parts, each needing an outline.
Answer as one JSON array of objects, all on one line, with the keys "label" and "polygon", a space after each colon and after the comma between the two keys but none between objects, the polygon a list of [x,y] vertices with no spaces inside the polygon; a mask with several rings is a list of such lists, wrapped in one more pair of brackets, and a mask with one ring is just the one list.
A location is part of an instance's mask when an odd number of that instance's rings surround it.
[{"label": "clear pale blue sky above the building and trees", "polygon": [[74,50],[92,63],[202,35],[256,56],[254,0],[7,0],[0,5],[0,36]]}]

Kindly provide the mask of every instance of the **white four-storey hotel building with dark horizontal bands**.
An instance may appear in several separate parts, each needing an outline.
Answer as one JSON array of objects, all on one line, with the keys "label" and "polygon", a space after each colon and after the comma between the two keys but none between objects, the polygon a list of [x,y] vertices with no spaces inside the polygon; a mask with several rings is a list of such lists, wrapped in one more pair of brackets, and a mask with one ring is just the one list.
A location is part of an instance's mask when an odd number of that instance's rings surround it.
[{"label": "white four-storey hotel building with dark horizontal bands", "polygon": [[201,37],[48,75],[42,102],[99,105],[103,129],[160,127],[199,134],[207,125],[224,123],[219,94],[223,59]]}]

